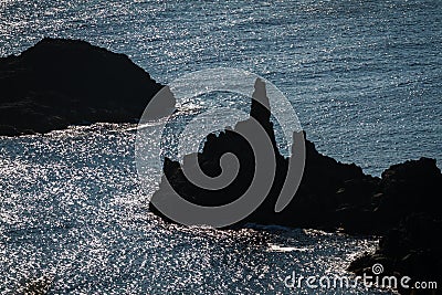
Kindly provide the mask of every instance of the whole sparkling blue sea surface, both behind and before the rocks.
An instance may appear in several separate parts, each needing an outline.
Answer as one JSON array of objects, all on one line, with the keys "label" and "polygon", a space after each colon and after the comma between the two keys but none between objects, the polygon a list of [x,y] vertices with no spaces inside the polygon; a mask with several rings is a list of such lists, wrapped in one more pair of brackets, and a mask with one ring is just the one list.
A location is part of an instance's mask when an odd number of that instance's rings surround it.
[{"label": "whole sparkling blue sea surface, both behind and before the rocks", "polygon": [[[441,11],[439,0],[0,0],[0,55],[50,35],[126,53],[161,83],[241,67],[287,95],[320,151],[379,175],[420,156],[441,167]],[[128,127],[0,138],[1,294],[42,276],[53,294],[287,293],[282,280],[293,270],[341,274],[376,243],[165,224],[147,210]],[[338,291],[351,292],[373,293]]]}]

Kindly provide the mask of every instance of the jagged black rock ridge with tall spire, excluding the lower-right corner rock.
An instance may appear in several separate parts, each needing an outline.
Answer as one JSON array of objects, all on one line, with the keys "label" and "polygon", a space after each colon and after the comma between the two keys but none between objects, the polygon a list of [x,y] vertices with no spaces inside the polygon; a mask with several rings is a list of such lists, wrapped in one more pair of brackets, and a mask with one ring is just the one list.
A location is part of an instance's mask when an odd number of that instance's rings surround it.
[{"label": "jagged black rock ridge with tall spire, excluding the lower-right corner rock", "polygon": [[[267,198],[244,222],[276,223],[301,228],[344,229],[354,233],[385,233],[388,229],[413,212],[439,214],[442,175],[435,160],[421,158],[387,169],[381,178],[365,175],[354,164],[347,165],[320,155],[313,143],[305,141],[306,162],[301,186],[292,202],[278,213],[275,202],[283,187],[288,159],[276,148],[271,113],[266,107],[264,83],[257,81],[251,106],[251,117],[264,128],[276,158],[276,176]],[[236,131],[251,125],[251,119],[240,122],[233,130],[207,137],[202,152],[198,156],[202,171],[215,177],[221,173],[220,159],[227,152],[234,154],[240,161],[235,180],[221,190],[207,190],[190,183],[185,173],[191,171],[191,161],[185,157],[183,167],[178,161],[165,160],[165,177],[185,199],[203,206],[229,203],[241,197],[254,176],[255,159],[248,141]],[[251,131],[253,133],[253,130]],[[294,150],[293,152],[296,152]],[[152,198],[167,198],[165,186]],[[159,213],[154,206],[154,212]],[[159,213],[160,214],[160,213]]]}]

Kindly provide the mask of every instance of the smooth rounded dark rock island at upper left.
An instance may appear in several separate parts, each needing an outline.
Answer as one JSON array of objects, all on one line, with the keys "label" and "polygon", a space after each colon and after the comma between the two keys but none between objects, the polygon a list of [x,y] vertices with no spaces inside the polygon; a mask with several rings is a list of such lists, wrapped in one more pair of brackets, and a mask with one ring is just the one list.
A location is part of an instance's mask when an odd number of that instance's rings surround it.
[{"label": "smooth rounded dark rock island at upper left", "polygon": [[[46,38],[19,56],[0,59],[0,135],[136,122],[162,87],[124,54]],[[175,107],[169,98],[164,107]]]}]

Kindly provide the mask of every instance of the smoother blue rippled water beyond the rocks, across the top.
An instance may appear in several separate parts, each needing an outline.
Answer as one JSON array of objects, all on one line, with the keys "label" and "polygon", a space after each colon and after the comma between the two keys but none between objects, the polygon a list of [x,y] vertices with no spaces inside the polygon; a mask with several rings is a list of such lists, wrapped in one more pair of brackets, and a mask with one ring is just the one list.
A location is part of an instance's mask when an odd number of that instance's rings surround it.
[{"label": "smoother blue rippled water beyond the rocks, across the top", "polygon": [[126,53],[161,83],[241,67],[287,94],[327,155],[375,175],[442,161],[439,0],[0,3],[1,55],[50,35]]}]

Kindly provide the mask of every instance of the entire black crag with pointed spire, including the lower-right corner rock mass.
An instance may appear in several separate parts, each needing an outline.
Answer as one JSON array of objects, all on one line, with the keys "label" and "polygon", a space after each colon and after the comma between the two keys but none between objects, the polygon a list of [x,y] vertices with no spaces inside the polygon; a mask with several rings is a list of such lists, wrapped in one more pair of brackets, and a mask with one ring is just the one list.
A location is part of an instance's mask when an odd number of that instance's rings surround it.
[{"label": "entire black crag with pointed spire, including the lower-right corner rock mass", "polygon": [[[261,123],[275,145],[270,113],[257,103],[260,101],[269,105],[265,95],[256,95],[262,87],[263,83],[256,81],[251,116]],[[234,130],[241,130],[248,124],[241,122]],[[183,167],[177,161],[166,159],[162,181],[167,178],[182,198],[198,204],[219,206],[239,198],[253,179],[254,157],[248,141],[234,130],[227,129],[219,135],[209,135],[202,152],[197,155],[202,171],[215,177],[221,172],[221,156],[225,152],[235,154],[240,161],[240,171],[230,186],[212,191],[191,185],[182,170],[192,170],[191,164],[187,161],[187,157],[192,155],[185,157]],[[385,238],[377,253],[357,260],[350,270],[360,273],[381,260],[387,268],[415,275],[413,278],[421,277],[418,276],[419,272],[422,276],[433,271],[433,274],[440,274],[441,247],[436,240],[442,234],[442,175],[435,160],[421,158],[394,165],[381,178],[375,178],[365,175],[354,164],[341,164],[320,155],[308,140],[305,140],[305,147],[304,175],[291,203],[283,211],[274,212],[288,167],[288,160],[276,149],[276,177],[273,187],[260,208],[243,222],[381,234]],[[168,187],[161,182],[152,199],[165,200],[169,194]],[[152,203],[150,210],[166,218]]]}]

